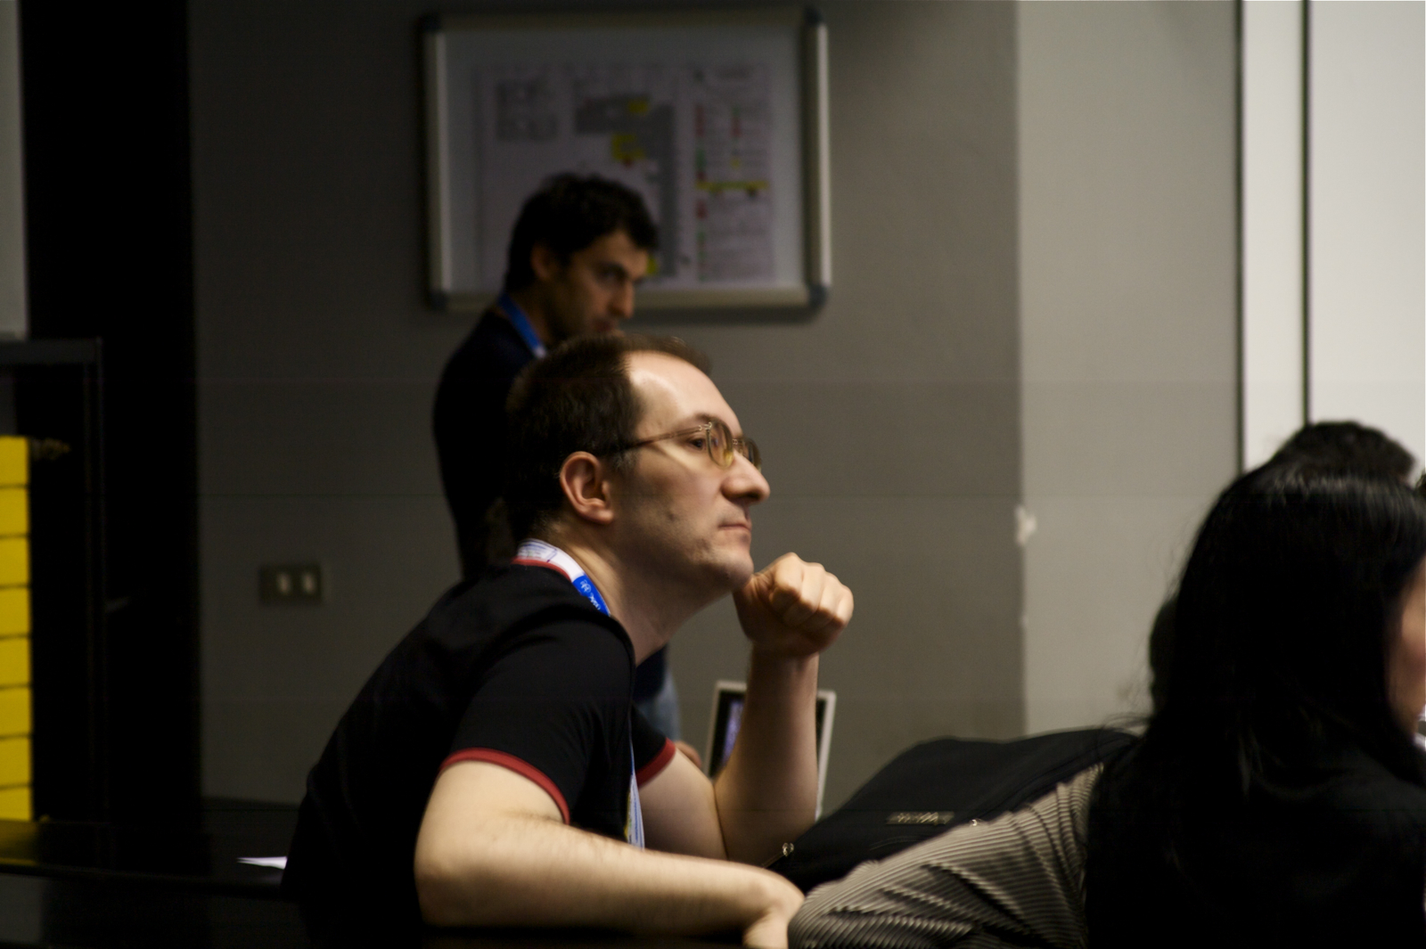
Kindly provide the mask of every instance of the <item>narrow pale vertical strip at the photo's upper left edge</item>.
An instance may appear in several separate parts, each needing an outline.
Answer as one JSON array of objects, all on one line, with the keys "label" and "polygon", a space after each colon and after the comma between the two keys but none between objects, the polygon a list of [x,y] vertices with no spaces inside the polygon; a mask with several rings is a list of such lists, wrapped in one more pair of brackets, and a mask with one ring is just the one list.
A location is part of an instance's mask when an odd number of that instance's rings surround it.
[{"label": "narrow pale vertical strip at the photo's upper left edge", "polygon": [[0,0],[0,339],[26,335],[20,4]]}]

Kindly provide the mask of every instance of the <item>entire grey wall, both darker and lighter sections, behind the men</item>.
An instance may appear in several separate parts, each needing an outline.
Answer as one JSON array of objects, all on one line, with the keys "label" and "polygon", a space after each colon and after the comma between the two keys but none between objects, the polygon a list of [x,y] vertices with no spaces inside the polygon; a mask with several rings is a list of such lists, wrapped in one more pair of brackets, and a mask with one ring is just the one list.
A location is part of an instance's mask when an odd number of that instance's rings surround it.
[{"label": "entire grey wall, both darker and lighter sections, behind the men", "polygon": [[[1137,701],[1232,473],[1233,36],[1226,3],[821,6],[831,301],[646,325],[712,355],[766,450],[759,560],[857,593],[823,665],[836,807],[913,741]],[[426,413],[469,319],[422,299],[425,11],[193,4],[210,794],[297,799],[456,576]],[[260,563],[307,559],[328,604],[257,606]],[[744,661],[727,603],[674,640],[694,744]]]}]

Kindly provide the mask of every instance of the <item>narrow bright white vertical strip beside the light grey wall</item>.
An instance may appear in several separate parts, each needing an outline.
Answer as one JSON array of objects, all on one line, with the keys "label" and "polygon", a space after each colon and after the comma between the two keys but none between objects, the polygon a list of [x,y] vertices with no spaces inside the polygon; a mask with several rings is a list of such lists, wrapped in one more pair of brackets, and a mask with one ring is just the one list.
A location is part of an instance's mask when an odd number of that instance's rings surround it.
[{"label": "narrow bright white vertical strip beside the light grey wall", "polygon": [[1302,0],[1242,7],[1242,453],[1302,426]]}]

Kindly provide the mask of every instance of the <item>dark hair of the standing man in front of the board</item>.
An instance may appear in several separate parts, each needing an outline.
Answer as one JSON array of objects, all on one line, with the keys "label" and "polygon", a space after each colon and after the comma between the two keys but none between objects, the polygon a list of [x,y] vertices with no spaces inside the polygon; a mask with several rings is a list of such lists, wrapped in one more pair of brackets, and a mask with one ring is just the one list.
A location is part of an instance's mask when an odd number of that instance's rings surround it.
[{"label": "dark hair of the standing man in front of the board", "polygon": [[505,291],[535,282],[530,251],[543,244],[560,259],[615,231],[623,231],[640,251],[659,247],[659,228],[636,191],[599,175],[562,174],[545,181],[520,208],[506,251]]}]

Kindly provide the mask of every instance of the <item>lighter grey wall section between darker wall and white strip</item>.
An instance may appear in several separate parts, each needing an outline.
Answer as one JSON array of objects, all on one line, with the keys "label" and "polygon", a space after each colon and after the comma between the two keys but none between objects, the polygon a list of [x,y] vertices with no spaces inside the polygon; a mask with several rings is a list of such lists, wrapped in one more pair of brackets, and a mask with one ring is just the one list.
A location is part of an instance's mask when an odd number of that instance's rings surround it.
[{"label": "lighter grey wall section between darker wall and white strip", "polygon": [[1238,462],[1238,68],[1229,3],[1017,11],[1035,732],[1147,710],[1154,614]]}]

